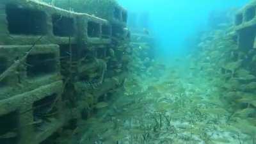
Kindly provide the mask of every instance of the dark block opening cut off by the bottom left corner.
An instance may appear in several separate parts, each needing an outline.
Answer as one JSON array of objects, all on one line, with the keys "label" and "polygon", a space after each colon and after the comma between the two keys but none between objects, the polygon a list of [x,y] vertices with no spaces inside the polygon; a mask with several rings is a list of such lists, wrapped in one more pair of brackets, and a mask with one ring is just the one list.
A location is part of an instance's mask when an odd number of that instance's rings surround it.
[{"label": "dark block opening cut off by the bottom left corner", "polygon": [[0,116],[0,143],[16,144],[19,140],[19,113],[13,111]]}]

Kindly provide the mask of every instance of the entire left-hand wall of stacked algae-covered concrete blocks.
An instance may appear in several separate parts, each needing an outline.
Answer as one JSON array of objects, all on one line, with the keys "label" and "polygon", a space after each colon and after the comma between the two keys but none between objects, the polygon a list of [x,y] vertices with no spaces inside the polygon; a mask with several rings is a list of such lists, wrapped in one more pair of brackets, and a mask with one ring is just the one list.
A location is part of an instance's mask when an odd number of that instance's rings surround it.
[{"label": "entire left-hand wall of stacked algae-covered concrete blocks", "polygon": [[122,86],[124,17],[116,1],[0,1],[1,144],[54,141]]}]

